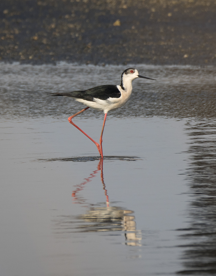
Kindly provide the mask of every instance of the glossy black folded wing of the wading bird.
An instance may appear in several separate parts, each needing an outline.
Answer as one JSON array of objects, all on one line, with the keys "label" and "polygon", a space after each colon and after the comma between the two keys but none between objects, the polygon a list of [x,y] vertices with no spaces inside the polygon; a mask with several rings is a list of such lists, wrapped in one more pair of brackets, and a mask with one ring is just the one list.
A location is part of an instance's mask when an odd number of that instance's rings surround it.
[{"label": "glossy black folded wing of the wading bird", "polygon": [[97,98],[100,100],[106,100],[108,98],[120,98],[121,93],[116,85],[101,85],[84,91],[73,91],[69,93],[53,93],[51,96],[66,96],[93,102],[93,98]]}]

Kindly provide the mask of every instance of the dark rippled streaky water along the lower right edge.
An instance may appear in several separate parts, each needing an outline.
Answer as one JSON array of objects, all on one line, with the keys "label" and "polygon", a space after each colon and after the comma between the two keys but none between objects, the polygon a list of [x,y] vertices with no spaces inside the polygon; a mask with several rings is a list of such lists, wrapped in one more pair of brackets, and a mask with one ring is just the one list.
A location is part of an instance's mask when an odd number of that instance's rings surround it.
[{"label": "dark rippled streaky water along the lower right edge", "polygon": [[[180,274],[215,274],[215,121],[189,121],[186,130],[190,137],[188,168],[189,227],[180,237],[186,240],[183,254],[185,269]],[[181,233],[181,229],[179,229]]]}]

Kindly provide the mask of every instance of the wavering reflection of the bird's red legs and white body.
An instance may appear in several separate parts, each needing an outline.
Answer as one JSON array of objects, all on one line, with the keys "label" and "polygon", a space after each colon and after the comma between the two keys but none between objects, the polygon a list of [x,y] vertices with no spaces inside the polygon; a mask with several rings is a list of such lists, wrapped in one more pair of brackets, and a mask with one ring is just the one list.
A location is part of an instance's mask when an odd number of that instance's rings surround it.
[{"label": "wavering reflection of the bird's red legs and white body", "polygon": [[[101,182],[106,196],[106,204],[91,204],[85,214],[78,216],[60,216],[56,221],[59,234],[76,232],[113,232],[123,231],[125,233],[125,244],[130,246],[141,246],[141,231],[136,230],[134,211],[119,206],[110,206],[109,196],[106,190],[103,177],[103,159],[98,163],[97,170],[94,170],[85,181],[76,186],[72,192],[73,203],[84,203],[85,199],[77,195],[84,189],[85,184],[92,181],[98,172],[101,172]],[[99,206],[98,206],[99,205]]]}]

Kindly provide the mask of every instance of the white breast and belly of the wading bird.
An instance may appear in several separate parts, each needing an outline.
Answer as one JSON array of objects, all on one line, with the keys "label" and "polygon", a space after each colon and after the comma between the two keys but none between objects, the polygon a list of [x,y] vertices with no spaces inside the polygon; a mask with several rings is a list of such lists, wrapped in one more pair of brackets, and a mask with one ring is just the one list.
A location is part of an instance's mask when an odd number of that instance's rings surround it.
[{"label": "white breast and belly of the wading bird", "polygon": [[79,98],[75,98],[75,100],[93,109],[101,110],[105,114],[110,110],[115,110],[125,105],[131,96],[132,86],[131,86],[131,91],[122,90],[121,86],[119,85],[117,85],[117,88],[121,92],[121,97],[119,98],[108,98],[107,100],[100,100],[100,99],[94,98],[93,102],[86,101]]}]

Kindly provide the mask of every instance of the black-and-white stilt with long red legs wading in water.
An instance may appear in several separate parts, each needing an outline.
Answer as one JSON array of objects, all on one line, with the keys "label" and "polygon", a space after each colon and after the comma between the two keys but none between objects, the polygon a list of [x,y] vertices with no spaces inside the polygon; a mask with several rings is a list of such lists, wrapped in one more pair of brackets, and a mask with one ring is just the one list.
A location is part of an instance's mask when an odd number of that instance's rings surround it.
[{"label": "black-and-white stilt with long red legs wading in water", "polygon": [[[67,93],[52,93],[51,96],[66,96],[74,98],[77,102],[83,103],[86,108],[77,112],[73,116],[68,118],[70,124],[75,126],[80,130],[85,136],[87,136],[98,148],[98,152],[103,159],[103,150],[102,150],[102,136],[104,131],[104,126],[106,122],[107,113],[111,110],[115,110],[119,107],[122,107],[131,97],[132,93],[132,81],[136,78],[145,78],[149,80],[156,80],[154,78],[147,78],[140,76],[138,71],[135,68],[128,68],[124,70],[121,76],[120,85],[100,85],[87,90],[79,90]],[[83,111],[93,108],[98,111],[104,112],[103,126],[100,136],[100,144],[94,141],[88,134],[86,134],[81,128],[79,128],[72,119],[81,114]]]}]

